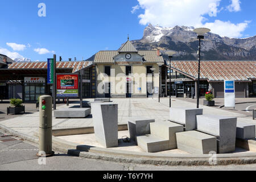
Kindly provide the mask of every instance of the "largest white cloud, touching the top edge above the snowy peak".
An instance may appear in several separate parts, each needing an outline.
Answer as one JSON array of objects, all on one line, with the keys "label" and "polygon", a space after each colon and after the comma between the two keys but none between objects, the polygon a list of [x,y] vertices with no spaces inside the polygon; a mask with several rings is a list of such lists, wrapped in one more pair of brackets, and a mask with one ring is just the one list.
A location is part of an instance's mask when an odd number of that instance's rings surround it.
[{"label": "largest white cloud, touching the top edge above the snowy peak", "polygon": [[221,0],[138,0],[144,14],[139,23],[159,24],[164,27],[199,26],[204,15],[217,15]]}]

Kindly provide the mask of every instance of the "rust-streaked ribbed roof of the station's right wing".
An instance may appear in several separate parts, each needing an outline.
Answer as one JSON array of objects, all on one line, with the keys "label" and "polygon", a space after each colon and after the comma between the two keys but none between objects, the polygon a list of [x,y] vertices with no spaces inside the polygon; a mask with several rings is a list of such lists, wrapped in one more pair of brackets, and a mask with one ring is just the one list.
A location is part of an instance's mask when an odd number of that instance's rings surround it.
[{"label": "rust-streaked ribbed roof of the station's right wing", "polygon": [[[201,61],[200,65],[200,77],[209,81],[256,78],[256,61]],[[198,61],[171,61],[171,67],[197,78]]]}]

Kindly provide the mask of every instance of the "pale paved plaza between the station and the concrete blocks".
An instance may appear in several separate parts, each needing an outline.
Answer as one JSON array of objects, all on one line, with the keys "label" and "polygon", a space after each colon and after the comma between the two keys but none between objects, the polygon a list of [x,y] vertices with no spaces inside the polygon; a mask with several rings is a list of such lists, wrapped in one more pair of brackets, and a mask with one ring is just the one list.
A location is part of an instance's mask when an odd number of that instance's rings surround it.
[{"label": "pale paved plaza between the station and the concrete blocks", "polygon": [[[254,98],[251,98],[252,100]],[[93,101],[89,99],[86,101]],[[112,101],[118,104],[118,125],[127,124],[129,117],[144,116],[151,119],[155,119],[155,122],[166,121],[169,119],[169,99],[161,98],[160,103],[158,98],[112,98]],[[68,107],[79,107],[78,102],[76,104],[57,105],[57,109],[63,109]],[[196,103],[188,102],[179,98],[172,98],[172,107],[191,107],[196,108]],[[251,115],[243,112],[234,112],[234,110],[218,109],[218,107],[208,107],[200,105],[200,108],[204,109],[203,114],[216,114],[225,115],[230,117],[237,117],[237,121],[255,124]],[[9,118],[0,121],[1,125],[9,127],[19,133],[26,135],[33,135],[34,131],[38,131],[39,127],[39,112],[35,111],[31,114],[18,115],[18,117]],[[79,127],[92,127],[93,119],[92,115],[87,118],[77,119],[52,119],[53,130],[55,129],[68,129]]]}]

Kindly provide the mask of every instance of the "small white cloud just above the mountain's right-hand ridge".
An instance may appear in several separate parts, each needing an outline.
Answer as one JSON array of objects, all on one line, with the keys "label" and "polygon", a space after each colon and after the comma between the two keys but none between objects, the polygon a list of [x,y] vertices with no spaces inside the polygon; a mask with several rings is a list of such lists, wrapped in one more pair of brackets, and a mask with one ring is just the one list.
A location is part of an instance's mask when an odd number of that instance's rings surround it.
[{"label": "small white cloud just above the mountain's right-hand ridge", "polygon": [[211,32],[219,34],[220,36],[228,36],[231,38],[241,38],[243,31],[248,27],[249,21],[243,23],[222,22],[215,20],[213,23],[205,23],[204,26],[210,28]]}]

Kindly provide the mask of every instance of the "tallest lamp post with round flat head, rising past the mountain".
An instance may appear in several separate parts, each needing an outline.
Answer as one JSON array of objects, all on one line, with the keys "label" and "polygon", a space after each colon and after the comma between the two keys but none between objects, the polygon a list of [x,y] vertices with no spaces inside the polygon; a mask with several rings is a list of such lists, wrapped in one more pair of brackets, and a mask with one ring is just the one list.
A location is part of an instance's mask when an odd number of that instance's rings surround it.
[{"label": "tallest lamp post with round flat head, rising past the mountain", "polygon": [[200,92],[199,92],[199,85],[200,85],[200,61],[201,61],[201,39],[204,39],[204,34],[207,32],[210,32],[209,28],[196,28],[194,30],[197,34],[197,39],[199,39],[199,51],[197,52],[198,55],[198,78],[197,78],[197,108],[199,108],[199,97],[200,97]]}]

